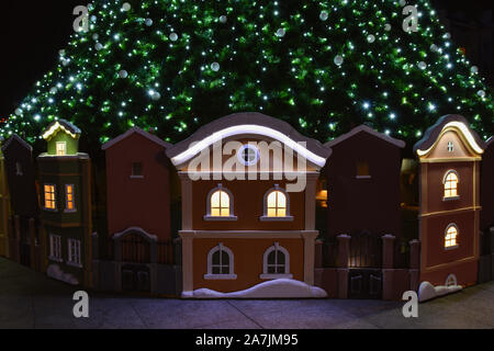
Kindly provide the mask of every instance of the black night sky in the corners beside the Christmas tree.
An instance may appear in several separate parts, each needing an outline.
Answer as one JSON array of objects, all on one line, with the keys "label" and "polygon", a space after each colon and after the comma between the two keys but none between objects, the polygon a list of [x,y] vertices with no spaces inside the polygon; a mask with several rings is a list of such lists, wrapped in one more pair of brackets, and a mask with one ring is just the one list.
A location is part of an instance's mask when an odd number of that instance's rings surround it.
[{"label": "black night sky in the corners beside the Christmas tree", "polygon": [[[493,0],[433,0],[444,8],[475,13]],[[412,2],[412,1],[411,1]],[[3,0],[0,20],[0,120],[12,113],[33,83],[54,68],[72,31],[72,10],[81,0]]]}]

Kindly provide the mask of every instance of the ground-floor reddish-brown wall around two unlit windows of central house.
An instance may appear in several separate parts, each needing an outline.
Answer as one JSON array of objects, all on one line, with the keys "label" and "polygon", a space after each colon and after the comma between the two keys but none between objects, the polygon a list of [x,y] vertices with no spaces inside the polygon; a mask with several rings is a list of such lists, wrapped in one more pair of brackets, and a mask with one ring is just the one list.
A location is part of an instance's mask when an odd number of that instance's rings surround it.
[{"label": "ground-floor reddish-brown wall around two unlit windows of central house", "polygon": [[[218,246],[231,249],[234,253],[235,281],[204,280],[207,273],[207,253]],[[262,274],[262,258],[266,250],[279,242],[290,253],[290,273],[293,279],[304,281],[304,241],[301,238],[284,239],[194,239],[193,240],[193,288],[210,288],[222,293],[243,291],[266,282],[259,278]]]}]

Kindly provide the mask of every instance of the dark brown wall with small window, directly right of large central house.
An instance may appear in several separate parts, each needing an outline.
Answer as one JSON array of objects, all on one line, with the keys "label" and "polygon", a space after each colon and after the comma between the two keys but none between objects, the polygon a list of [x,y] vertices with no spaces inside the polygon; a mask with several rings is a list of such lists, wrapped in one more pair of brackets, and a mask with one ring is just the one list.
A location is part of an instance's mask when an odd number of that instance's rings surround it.
[{"label": "dark brown wall with small window, directly right of large central house", "polygon": [[[332,146],[325,173],[328,188],[328,236],[357,234],[401,236],[401,150],[368,133]],[[357,162],[369,165],[371,179],[357,179]]]}]

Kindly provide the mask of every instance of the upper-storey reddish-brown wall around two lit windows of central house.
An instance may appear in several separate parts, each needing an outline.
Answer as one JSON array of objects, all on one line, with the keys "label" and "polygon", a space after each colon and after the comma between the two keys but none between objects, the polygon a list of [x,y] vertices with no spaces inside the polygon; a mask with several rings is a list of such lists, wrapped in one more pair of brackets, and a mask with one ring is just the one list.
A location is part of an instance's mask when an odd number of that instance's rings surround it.
[{"label": "upper-storey reddish-brown wall around two lit windows of central house", "polygon": [[[237,220],[204,220],[207,194],[217,184],[233,194]],[[285,181],[197,181],[192,182],[192,228],[194,230],[302,230],[305,226],[305,192],[288,193],[292,222],[261,222],[265,194],[274,184],[285,189]],[[314,200],[315,202],[315,200]]]}]

